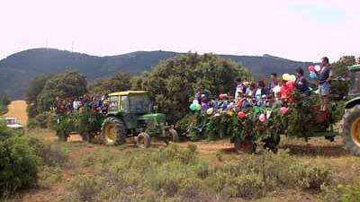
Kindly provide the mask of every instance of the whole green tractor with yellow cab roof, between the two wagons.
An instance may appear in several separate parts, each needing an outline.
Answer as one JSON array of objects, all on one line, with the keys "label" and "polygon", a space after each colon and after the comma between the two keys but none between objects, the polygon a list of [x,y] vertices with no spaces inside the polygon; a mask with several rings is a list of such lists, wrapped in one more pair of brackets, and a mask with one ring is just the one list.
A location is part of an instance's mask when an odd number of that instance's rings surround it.
[{"label": "whole green tractor with yellow cab roof, between the two wagons", "polygon": [[148,148],[151,137],[177,142],[174,128],[167,126],[166,116],[153,113],[148,92],[112,92],[108,98],[108,113],[103,120],[101,139],[104,145],[120,145],[135,136],[139,147]]}]

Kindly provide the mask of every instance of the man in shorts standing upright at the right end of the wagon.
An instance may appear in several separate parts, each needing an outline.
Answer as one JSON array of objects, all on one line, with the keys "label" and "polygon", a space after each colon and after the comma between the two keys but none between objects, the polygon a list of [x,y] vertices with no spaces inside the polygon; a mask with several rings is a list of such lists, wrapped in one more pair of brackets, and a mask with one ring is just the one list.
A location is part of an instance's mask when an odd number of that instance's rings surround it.
[{"label": "man in shorts standing upright at the right end of the wagon", "polygon": [[330,102],[330,83],[331,79],[334,77],[334,71],[329,64],[328,57],[321,58],[321,69],[318,74],[318,82],[319,82],[319,94],[321,97],[321,110],[328,110],[329,102]]}]

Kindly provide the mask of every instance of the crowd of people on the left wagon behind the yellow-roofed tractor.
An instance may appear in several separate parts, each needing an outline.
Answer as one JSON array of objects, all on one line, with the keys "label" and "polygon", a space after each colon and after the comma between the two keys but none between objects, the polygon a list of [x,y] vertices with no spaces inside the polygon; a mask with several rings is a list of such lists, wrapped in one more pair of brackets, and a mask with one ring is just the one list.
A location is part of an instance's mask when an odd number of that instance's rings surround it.
[{"label": "crowd of people on the left wagon behind the yellow-roofed tractor", "polygon": [[108,110],[108,101],[104,95],[101,97],[84,95],[67,99],[56,97],[51,109],[56,114],[68,114],[84,108],[93,112],[106,113]]}]

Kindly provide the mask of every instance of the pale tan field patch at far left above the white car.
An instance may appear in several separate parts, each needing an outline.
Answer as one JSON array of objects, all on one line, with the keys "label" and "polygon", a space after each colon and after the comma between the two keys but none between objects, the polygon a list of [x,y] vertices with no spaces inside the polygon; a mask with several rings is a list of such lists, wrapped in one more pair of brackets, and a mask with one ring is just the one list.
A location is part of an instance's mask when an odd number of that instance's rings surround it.
[{"label": "pale tan field patch at far left above the white car", "polygon": [[9,111],[4,114],[4,117],[16,118],[23,126],[28,123],[28,115],[26,112],[26,101],[12,101],[8,106]]}]

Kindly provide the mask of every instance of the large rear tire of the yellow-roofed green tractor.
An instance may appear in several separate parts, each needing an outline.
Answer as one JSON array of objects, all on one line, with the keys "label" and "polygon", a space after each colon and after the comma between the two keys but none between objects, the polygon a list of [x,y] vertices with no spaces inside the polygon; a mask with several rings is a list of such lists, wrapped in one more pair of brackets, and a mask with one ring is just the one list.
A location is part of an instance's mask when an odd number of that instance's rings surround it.
[{"label": "large rear tire of the yellow-roofed green tractor", "polygon": [[121,119],[109,117],[103,120],[101,140],[104,145],[121,145],[126,141],[125,125]]}]

